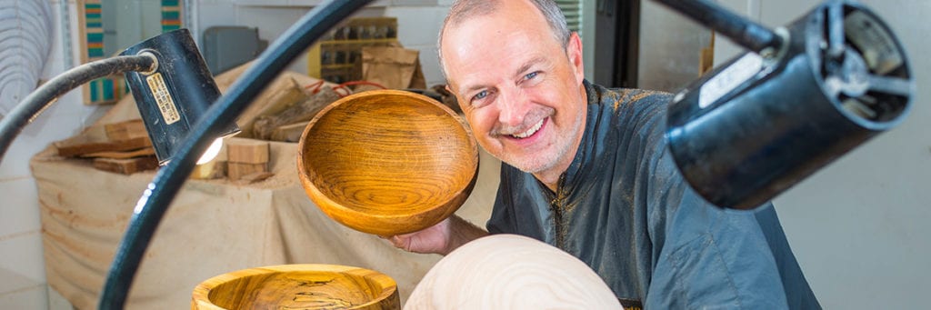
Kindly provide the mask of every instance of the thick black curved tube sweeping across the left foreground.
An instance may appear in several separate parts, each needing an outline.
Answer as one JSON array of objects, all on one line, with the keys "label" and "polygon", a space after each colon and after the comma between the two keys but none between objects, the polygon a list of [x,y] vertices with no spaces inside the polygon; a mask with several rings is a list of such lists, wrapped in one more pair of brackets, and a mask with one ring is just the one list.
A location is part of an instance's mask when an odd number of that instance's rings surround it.
[{"label": "thick black curved tube sweeping across the left foreground", "polygon": [[306,47],[370,2],[371,0],[330,0],[314,7],[266,49],[228,88],[227,93],[210,106],[201,121],[188,133],[174,159],[169,165],[158,170],[155,179],[149,183],[139,199],[103,285],[100,309],[122,309],[125,305],[132,279],[155,233],[155,228],[168,210],[171,200],[178,194],[187,176],[194,169],[197,157],[213,141],[210,135],[235,122],[236,117],[269,82],[291,61],[303,55]]}]

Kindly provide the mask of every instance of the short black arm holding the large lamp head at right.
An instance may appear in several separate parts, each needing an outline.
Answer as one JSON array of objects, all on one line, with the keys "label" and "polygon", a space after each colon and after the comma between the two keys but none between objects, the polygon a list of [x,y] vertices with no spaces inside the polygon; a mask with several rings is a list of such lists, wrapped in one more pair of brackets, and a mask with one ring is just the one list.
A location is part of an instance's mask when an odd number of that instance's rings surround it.
[{"label": "short black arm holding the large lamp head at right", "polygon": [[741,17],[710,0],[655,0],[709,29],[723,34],[734,43],[761,53],[766,47],[778,49],[782,38],[765,26]]}]

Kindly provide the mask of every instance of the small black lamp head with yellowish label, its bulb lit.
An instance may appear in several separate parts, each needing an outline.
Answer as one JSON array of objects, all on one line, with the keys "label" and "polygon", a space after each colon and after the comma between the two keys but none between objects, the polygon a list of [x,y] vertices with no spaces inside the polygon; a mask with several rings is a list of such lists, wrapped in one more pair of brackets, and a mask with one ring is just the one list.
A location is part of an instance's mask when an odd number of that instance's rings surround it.
[{"label": "small black lamp head with yellowish label, its bulb lit", "polygon": [[[187,29],[159,34],[120,55],[150,55],[156,60],[155,71],[127,72],[126,79],[158,163],[165,165],[200,115],[220,98],[220,89]],[[236,132],[234,123],[214,136]]]}]

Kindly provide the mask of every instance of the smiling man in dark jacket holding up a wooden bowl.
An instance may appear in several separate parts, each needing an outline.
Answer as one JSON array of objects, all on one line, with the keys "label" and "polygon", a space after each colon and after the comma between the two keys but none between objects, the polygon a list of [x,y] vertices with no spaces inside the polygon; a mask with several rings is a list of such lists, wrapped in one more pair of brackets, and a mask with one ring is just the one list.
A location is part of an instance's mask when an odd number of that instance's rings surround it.
[{"label": "smiling man in dark jacket holding up a wooden bowl", "polygon": [[501,185],[487,232],[452,216],[395,246],[447,254],[518,234],[587,263],[626,307],[820,307],[772,205],[696,195],[666,151],[669,95],[588,83],[551,0],[457,1],[439,51],[476,139],[504,162]]}]

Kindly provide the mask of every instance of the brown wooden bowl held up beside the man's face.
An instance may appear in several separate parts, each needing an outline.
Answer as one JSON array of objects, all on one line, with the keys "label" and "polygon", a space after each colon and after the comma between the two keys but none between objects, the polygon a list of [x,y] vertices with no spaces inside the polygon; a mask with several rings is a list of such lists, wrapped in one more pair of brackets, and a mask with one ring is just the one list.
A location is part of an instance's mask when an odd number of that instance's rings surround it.
[{"label": "brown wooden bowl held up beside the man's face", "polygon": [[475,185],[479,149],[448,107],[400,90],[333,102],[304,129],[298,174],[310,199],[336,222],[395,236],[459,209]]}]

